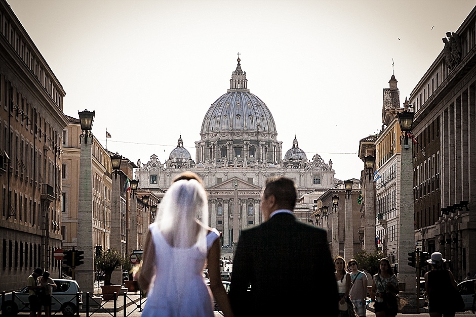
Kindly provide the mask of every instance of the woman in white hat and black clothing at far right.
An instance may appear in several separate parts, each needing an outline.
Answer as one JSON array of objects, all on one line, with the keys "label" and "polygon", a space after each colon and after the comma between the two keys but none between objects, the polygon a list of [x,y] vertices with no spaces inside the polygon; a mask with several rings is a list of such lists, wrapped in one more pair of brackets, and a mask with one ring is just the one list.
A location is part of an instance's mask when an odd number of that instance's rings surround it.
[{"label": "woman in white hat and black clothing at far right", "polygon": [[456,311],[458,286],[449,269],[444,269],[440,252],[433,252],[426,260],[431,264],[431,270],[425,273],[425,289],[428,296],[428,312],[430,317],[454,317]]}]

